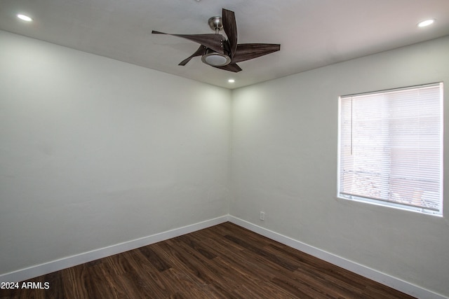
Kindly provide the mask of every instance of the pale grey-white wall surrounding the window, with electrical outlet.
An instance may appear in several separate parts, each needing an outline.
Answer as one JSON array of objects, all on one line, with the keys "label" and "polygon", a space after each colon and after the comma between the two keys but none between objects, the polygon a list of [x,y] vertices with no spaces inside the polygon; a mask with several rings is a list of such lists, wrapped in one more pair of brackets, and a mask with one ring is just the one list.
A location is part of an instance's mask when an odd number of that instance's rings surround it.
[{"label": "pale grey-white wall surrounding the window, with electrical outlet", "polygon": [[447,196],[444,217],[336,197],[338,96],[439,81],[449,37],[234,90],[229,214],[449,296]]}]

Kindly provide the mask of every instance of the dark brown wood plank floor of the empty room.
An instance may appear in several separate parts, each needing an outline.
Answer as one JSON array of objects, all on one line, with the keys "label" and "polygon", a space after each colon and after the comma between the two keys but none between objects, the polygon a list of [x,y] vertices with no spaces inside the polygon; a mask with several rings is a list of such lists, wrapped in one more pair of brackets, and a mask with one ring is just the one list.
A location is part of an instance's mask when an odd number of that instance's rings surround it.
[{"label": "dark brown wood plank floor of the empty room", "polygon": [[232,223],[28,281],[0,298],[413,298]]}]

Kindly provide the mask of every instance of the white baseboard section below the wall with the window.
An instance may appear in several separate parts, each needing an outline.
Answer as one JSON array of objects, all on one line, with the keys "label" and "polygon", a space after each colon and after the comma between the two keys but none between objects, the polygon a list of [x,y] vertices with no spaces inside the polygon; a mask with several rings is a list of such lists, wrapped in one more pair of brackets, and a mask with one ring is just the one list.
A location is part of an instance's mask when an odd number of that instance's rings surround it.
[{"label": "white baseboard section below the wall with the window", "polygon": [[359,274],[363,277],[367,277],[369,279],[377,281],[380,284],[384,284],[408,295],[412,295],[416,298],[447,299],[447,297],[440,295],[438,293],[434,293],[420,286],[416,286],[415,284],[410,284],[407,281],[403,281],[396,277],[392,277],[388,274],[374,270],[370,267],[354,263],[351,260],[347,260],[340,256],[335,256],[335,254],[333,253],[328,253],[314,246],[310,246],[308,244],[302,243],[290,237],[286,237],[277,232],[273,232],[272,230],[267,230],[267,228],[262,228],[259,225],[255,225],[248,221],[244,221],[240,218],[236,218],[234,216],[229,215],[229,222],[232,222],[243,228],[247,228],[248,230],[256,232],[257,234],[267,237],[269,239],[273,239],[274,241],[277,241],[279,243],[293,247],[294,249],[300,250],[304,253],[308,253],[311,256],[320,258],[321,260],[326,260],[326,262],[332,263],[333,265],[337,265],[346,270]]}]

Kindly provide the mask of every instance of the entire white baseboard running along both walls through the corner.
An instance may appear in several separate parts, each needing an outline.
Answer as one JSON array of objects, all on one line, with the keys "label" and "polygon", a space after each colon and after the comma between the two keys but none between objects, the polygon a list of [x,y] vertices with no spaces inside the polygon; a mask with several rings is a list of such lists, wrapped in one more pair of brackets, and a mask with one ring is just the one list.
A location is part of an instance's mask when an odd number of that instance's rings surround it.
[{"label": "entire white baseboard running along both walls through the corner", "polygon": [[388,274],[371,269],[370,267],[354,263],[351,260],[347,260],[340,256],[335,256],[333,253],[328,253],[314,246],[310,246],[308,244],[302,243],[290,237],[281,235],[277,232],[273,232],[272,230],[267,230],[267,228],[262,228],[259,225],[255,225],[253,223],[244,221],[240,218],[236,218],[230,215],[220,216],[217,218],[209,219],[207,221],[187,225],[182,228],[175,228],[173,230],[160,232],[158,234],[142,237],[140,239],[133,239],[128,242],[123,242],[120,244],[95,249],[93,251],[80,253],[75,256],[69,256],[67,258],[53,260],[48,263],[27,267],[25,269],[17,270],[14,272],[0,274],[0,281],[23,281],[31,279],[34,277],[41,276],[43,274],[48,274],[51,272],[62,270],[67,267],[73,267],[74,265],[88,263],[91,262],[92,260],[97,260],[98,258],[105,258],[107,256],[112,256],[117,253],[136,249],[149,244],[154,244],[156,242],[161,242],[163,240],[178,237],[180,235],[185,235],[188,234],[189,232],[194,232],[196,230],[208,228],[210,226],[224,223],[227,221],[230,221],[243,228],[247,228],[248,230],[256,232],[257,234],[262,235],[264,237],[268,237],[269,239],[274,239],[277,242],[286,244],[287,246],[293,247],[294,249],[308,253],[311,256],[315,256],[316,258],[326,260],[327,262],[332,263],[333,265],[337,265],[351,272],[355,272],[357,274],[362,275],[363,277],[373,279],[374,281],[380,282],[381,284],[384,284],[386,286],[390,286],[391,288],[395,288],[396,290],[406,293],[408,295],[413,295],[416,298],[447,299],[443,295],[434,293],[420,286],[416,286],[415,284],[410,284],[407,281],[403,281],[396,277],[392,277]]}]

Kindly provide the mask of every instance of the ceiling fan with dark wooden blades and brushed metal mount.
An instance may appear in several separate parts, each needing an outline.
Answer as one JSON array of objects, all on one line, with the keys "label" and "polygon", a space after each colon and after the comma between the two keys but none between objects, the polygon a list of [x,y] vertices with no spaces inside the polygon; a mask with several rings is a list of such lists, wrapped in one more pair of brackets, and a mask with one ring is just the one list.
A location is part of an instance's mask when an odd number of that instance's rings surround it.
[{"label": "ceiling fan with dark wooden blades and brushed metal mount", "polygon": [[[237,43],[237,25],[234,11],[223,8],[222,17],[212,17],[208,20],[215,34],[168,34],[199,43],[195,53],[182,60],[178,65],[186,65],[193,57],[201,56],[201,61],[218,69],[226,71],[241,71],[237,62],[279,51],[281,45],[274,43]],[[227,39],[219,32],[224,29]],[[152,31],[152,34],[167,34]]]}]

